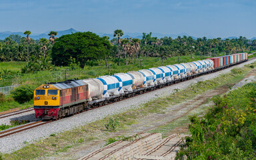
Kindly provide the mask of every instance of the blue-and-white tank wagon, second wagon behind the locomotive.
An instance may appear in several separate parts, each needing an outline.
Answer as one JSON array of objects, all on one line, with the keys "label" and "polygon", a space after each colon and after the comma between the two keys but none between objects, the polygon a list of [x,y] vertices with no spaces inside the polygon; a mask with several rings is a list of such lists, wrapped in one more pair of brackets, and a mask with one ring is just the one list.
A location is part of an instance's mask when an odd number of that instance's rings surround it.
[{"label": "blue-and-white tank wagon, second wagon behind the locomotive", "polygon": [[116,77],[104,75],[97,79],[103,83],[103,97],[107,98],[110,95],[119,95],[119,81]]}]

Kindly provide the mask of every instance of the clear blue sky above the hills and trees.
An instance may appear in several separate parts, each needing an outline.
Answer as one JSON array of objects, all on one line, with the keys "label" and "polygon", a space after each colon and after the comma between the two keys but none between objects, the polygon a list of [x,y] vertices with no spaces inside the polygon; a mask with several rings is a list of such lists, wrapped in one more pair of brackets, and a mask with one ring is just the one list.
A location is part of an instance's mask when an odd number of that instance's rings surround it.
[{"label": "clear blue sky above the hills and trees", "polygon": [[0,32],[187,33],[256,37],[255,0],[1,0]]}]

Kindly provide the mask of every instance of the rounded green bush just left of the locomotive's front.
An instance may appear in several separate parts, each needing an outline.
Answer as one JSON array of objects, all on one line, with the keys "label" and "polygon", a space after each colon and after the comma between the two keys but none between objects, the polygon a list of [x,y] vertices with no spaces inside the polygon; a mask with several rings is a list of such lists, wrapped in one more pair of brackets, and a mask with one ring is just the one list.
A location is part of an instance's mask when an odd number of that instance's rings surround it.
[{"label": "rounded green bush just left of the locomotive's front", "polygon": [[11,95],[18,103],[25,103],[33,99],[34,89],[32,85],[21,85],[13,89]]}]

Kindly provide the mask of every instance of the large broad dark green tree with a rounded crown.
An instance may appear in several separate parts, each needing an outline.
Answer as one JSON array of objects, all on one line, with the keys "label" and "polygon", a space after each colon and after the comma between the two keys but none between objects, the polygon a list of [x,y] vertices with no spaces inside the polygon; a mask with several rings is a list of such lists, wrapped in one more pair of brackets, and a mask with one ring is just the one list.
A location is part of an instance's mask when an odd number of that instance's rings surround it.
[{"label": "large broad dark green tree with a rounded crown", "polygon": [[55,65],[69,65],[70,57],[85,67],[88,61],[105,58],[105,53],[111,48],[109,41],[91,32],[77,32],[62,35],[53,45],[51,56]]}]

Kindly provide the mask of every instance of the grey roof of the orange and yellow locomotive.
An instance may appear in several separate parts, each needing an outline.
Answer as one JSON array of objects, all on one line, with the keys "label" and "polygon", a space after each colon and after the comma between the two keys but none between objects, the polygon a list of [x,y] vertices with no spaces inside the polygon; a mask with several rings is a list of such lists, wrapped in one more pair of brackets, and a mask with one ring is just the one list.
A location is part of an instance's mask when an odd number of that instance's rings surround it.
[{"label": "grey roof of the orange and yellow locomotive", "polygon": [[63,81],[58,83],[51,83],[57,89],[69,89],[73,87],[80,87],[83,85],[87,85],[87,83],[83,82],[82,80],[70,80],[70,81]]}]

